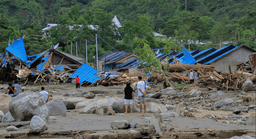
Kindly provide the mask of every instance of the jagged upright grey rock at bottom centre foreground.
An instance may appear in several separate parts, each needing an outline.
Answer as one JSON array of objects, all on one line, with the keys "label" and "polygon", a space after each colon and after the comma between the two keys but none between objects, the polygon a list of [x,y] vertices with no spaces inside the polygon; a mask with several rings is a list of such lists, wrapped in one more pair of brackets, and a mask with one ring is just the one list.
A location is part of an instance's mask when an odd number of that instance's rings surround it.
[{"label": "jagged upright grey rock at bottom centre foreground", "polygon": [[163,136],[163,132],[167,130],[160,114],[153,114],[151,116],[149,126],[154,126],[155,132],[158,133],[159,136]]}]

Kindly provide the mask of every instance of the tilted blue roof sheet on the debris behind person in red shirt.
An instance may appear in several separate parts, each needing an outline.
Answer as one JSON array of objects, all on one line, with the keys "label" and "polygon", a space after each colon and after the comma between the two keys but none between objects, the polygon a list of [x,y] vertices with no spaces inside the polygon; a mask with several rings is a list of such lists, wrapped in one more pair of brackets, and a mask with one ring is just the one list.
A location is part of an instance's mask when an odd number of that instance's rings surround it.
[{"label": "tilted blue roof sheet on the debris behind person in red shirt", "polygon": [[84,81],[94,83],[96,80],[100,79],[98,76],[94,75],[97,72],[98,71],[91,66],[83,63],[83,65],[78,68],[69,78],[76,78],[76,75],[79,75],[80,84],[82,84]]}]

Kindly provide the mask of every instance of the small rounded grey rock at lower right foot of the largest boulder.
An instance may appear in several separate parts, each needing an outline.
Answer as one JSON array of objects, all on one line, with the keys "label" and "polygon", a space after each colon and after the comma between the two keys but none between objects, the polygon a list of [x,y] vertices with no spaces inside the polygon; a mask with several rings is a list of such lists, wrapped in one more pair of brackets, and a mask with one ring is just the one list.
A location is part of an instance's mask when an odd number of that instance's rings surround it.
[{"label": "small rounded grey rock at lower right foot of the largest boulder", "polygon": [[36,132],[36,133],[42,132],[42,131],[48,129],[45,121],[38,116],[32,117],[32,119],[30,121],[30,126],[31,126],[31,132]]}]

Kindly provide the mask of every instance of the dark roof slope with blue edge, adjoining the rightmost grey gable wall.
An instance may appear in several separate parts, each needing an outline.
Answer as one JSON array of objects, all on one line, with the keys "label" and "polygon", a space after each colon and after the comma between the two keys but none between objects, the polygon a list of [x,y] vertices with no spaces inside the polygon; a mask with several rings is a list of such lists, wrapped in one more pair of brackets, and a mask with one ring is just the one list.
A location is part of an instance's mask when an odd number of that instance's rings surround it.
[{"label": "dark roof slope with blue edge, adjoining the rightmost grey gable wall", "polygon": [[223,48],[217,49],[216,51],[212,52],[211,54],[199,59],[198,61],[196,61],[196,63],[200,63],[200,64],[205,64],[208,63],[208,61],[211,61],[212,59],[215,59],[218,56],[221,56],[222,54],[226,54],[227,51],[232,50],[236,48],[236,46],[234,45],[227,45]]}]

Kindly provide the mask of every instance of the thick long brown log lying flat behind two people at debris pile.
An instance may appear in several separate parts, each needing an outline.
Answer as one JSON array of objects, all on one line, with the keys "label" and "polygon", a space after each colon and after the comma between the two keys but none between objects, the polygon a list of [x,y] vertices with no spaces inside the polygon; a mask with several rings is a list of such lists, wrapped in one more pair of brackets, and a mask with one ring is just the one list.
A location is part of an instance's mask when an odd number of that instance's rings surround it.
[{"label": "thick long brown log lying flat behind two people at debris pile", "polygon": [[169,72],[183,72],[186,71],[186,69],[204,69],[207,71],[216,71],[213,65],[192,65],[192,64],[170,64],[168,69]]}]

